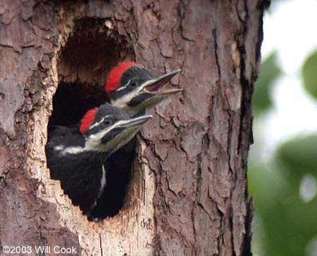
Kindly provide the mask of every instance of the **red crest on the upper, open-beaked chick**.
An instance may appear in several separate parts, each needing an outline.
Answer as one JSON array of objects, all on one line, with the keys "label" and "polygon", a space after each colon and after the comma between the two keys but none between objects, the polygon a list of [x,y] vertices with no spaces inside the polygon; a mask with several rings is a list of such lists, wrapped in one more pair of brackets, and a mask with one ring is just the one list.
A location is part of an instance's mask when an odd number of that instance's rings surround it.
[{"label": "red crest on the upper, open-beaked chick", "polygon": [[113,68],[108,76],[107,84],[106,84],[106,92],[108,94],[111,93],[111,91],[114,91],[117,89],[117,87],[120,85],[120,79],[125,71],[127,71],[129,68],[138,65],[135,62],[132,61],[126,61],[119,63],[116,68]]}]

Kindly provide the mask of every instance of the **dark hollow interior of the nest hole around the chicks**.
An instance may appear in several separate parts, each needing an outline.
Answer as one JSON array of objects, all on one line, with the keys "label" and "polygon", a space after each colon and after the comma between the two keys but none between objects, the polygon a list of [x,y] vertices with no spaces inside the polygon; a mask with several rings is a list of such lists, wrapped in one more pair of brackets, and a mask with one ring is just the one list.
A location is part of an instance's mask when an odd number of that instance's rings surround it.
[{"label": "dark hollow interior of the nest hole around the chicks", "polygon": [[[53,98],[48,132],[55,125],[70,127],[79,123],[87,110],[109,101],[104,90],[108,72],[130,54],[125,41],[104,30],[104,27],[100,32],[95,29],[97,25],[101,23],[95,20],[78,21],[77,33],[68,39],[61,51],[58,59],[59,84]],[[135,141],[128,146],[135,148]],[[122,161],[123,151],[117,151],[109,160],[110,166],[115,163],[117,168],[106,169],[106,188],[91,219],[113,217],[123,207],[134,160],[132,154]]]}]

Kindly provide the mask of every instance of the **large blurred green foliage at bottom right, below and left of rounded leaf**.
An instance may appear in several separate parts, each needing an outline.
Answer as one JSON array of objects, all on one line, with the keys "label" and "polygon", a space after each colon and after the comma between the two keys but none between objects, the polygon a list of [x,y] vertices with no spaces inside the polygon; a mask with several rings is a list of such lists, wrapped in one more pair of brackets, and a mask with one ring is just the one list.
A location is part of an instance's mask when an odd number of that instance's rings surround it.
[{"label": "large blurred green foliage at bottom right, below and left of rounded leaf", "polygon": [[303,256],[316,235],[317,197],[308,203],[299,198],[300,181],[278,158],[268,165],[249,165],[249,191],[255,195],[256,215],[262,222],[261,233],[254,231],[261,237],[257,240],[261,252],[256,245],[253,248],[259,255]]}]

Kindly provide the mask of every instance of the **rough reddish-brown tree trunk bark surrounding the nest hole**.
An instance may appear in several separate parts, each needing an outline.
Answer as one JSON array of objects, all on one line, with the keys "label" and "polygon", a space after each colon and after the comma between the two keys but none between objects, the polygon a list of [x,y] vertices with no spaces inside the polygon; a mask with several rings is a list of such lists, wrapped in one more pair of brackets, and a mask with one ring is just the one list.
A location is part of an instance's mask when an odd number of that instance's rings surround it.
[{"label": "rough reddish-brown tree trunk bark surrounding the nest hole", "polygon": [[[247,153],[260,3],[0,1],[0,248],[250,255]],[[172,85],[184,91],[151,110],[125,207],[96,224],[49,179],[46,128],[58,83],[100,87],[127,58],[155,75],[182,68]]]}]

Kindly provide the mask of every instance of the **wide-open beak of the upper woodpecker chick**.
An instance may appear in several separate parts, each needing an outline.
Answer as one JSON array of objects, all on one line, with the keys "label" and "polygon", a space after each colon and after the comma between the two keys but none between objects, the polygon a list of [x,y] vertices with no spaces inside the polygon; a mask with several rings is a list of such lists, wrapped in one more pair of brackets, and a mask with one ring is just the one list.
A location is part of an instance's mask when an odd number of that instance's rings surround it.
[{"label": "wide-open beak of the upper woodpecker chick", "polygon": [[144,84],[142,84],[142,92],[149,93],[149,94],[155,94],[157,96],[169,96],[172,94],[176,94],[179,91],[182,91],[182,89],[170,89],[166,91],[159,91],[165,84],[170,82],[170,79],[175,77],[180,72],[180,70],[174,70],[172,72],[169,72],[168,74],[162,75],[161,77],[158,77],[156,79],[151,79]]}]

